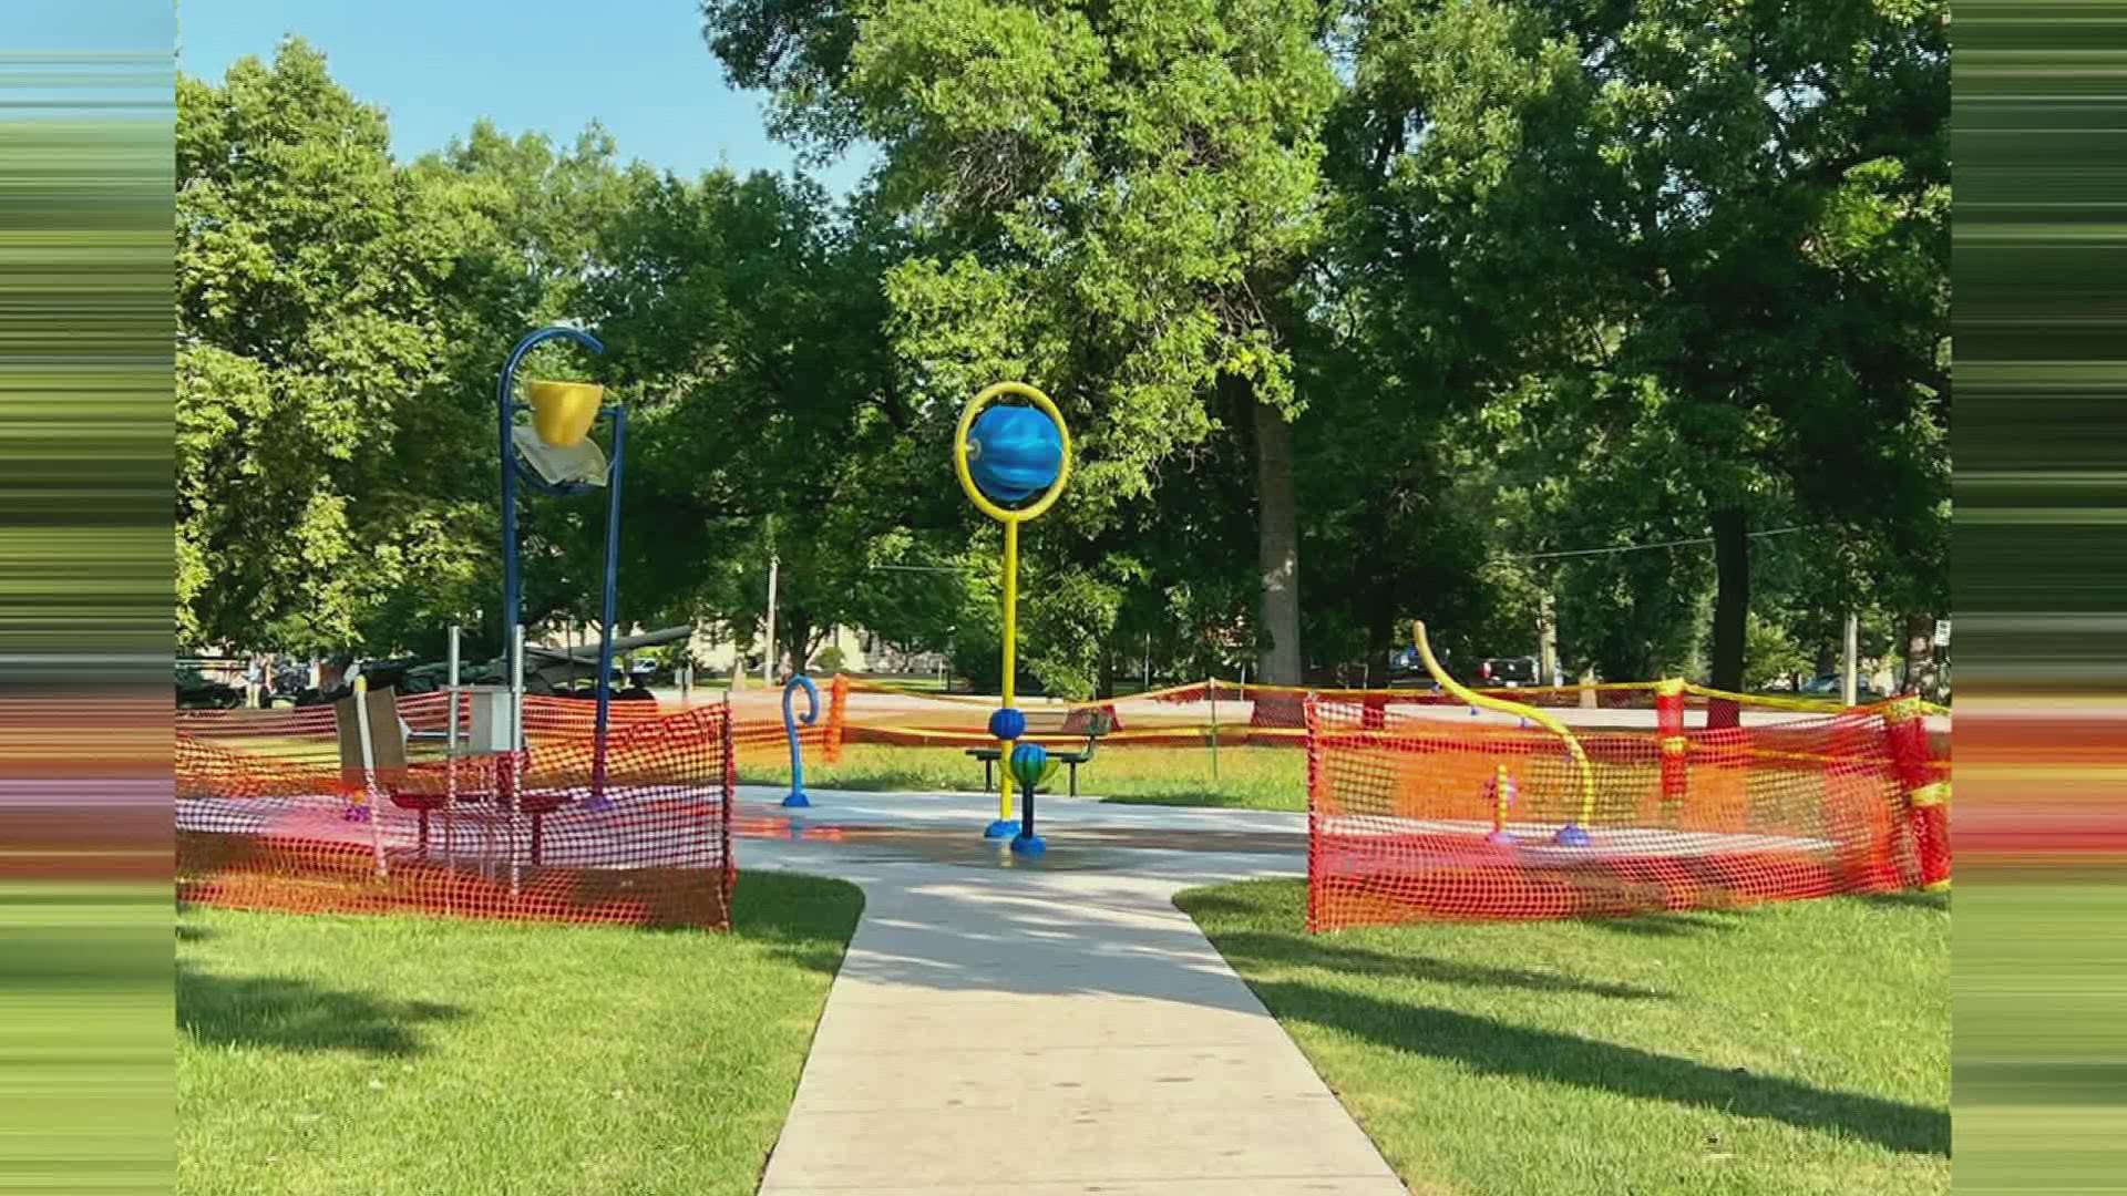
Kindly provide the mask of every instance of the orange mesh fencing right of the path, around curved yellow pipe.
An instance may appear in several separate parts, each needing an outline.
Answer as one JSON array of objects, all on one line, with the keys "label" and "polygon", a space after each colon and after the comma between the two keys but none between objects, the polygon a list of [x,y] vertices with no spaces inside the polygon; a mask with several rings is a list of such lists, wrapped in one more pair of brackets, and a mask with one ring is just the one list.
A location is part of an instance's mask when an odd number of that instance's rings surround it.
[{"label": "orange mesh fencing right of the path, around curved yellow pipe", "polygon": [[1576,732],[1587,773],[1540,728],[1363,702],[1310,700],[1304,715],[1310,930],[1725,909],[1948,879],[1946,813],[1931,821],[1942,802],[1914,790],[1919,768],[1933,775],[1925,732],[1912,738],[1923,724],[1887,707],[1755,728],[1591,728]]}]

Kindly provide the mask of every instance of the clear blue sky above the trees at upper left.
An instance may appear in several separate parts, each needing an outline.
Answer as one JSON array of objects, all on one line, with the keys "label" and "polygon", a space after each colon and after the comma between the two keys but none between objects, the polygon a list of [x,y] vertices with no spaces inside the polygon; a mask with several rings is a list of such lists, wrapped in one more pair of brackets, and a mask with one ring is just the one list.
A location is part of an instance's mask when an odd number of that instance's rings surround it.
[{"label": "clear blue sky above the trees at upper left", "polygon": [[[181,0],[179,70],[219,81],[245,55],[270,62],[287,34],[321,49],[342,87],[391,115],[402,157],[489,117],[508,134],[545,132],[562,145],[598,119],[623,160],[683,177],[795,164],[764,128],[764,96],[725,83],[696,0]],[[817,177],[847,194],[866,166],[857,155]]]}]

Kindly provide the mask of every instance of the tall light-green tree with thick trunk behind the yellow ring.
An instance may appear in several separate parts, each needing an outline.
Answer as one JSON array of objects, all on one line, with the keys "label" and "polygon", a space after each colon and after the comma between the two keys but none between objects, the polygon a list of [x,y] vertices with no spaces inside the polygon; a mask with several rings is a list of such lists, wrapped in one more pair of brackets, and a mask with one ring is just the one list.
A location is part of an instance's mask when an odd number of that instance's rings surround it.
[{"label": "tall light-green tree with thick trunk behind the yellow ring", "polygon": [[1093,538],[1238,413],[1261,670],[1297,681],[1289,330],[1321,236],[1329,9],[706,0],[704,17],[785,134],[883,147],[881,202],[921,243],[887,294],[925,441],[981,385],[1038,379],[1083,451],[1061,517]]}]

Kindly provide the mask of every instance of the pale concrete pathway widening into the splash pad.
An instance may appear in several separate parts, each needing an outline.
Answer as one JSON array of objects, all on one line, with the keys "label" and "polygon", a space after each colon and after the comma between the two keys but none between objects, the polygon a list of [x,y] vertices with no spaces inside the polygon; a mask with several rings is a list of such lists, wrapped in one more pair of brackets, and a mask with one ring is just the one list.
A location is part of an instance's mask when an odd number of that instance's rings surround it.
[{"label": "pale concrete pathway widening into the splash pad", "polygon": [[[1051,851],[1027,862],[981,841],[976,794],[815,794],[798,838],[766,796],[742,804],[740,885],[749,868],[842,877],[866,911],[764,1196],[1404,1194],[1172,904],[1302,873],[1300,817],[1044,800]],[[1236,815],[1251,849],[1187,849]],[[1180,847],[1119,845],[1153,830]]]}]

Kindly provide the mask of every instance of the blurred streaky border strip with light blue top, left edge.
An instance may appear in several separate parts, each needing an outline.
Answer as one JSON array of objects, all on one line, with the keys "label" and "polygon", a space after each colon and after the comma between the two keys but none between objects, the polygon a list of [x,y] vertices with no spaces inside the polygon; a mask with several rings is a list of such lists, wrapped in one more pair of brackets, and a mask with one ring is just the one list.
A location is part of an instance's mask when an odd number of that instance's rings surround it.
[{"label": "blurred streaky border strip with light blue top, left edge", "polygon": [[9,17],[0,1187],[168,1192],[174,9]]}]

